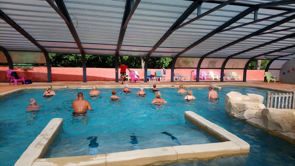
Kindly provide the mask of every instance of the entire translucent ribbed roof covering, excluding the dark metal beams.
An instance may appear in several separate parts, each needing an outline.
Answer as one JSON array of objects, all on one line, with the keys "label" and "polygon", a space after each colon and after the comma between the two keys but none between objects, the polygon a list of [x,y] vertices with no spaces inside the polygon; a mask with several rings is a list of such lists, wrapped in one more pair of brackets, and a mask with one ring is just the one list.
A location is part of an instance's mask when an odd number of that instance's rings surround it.
[{"label": "entire translucent ribbed roof covering, excluding the dark metal beams", "polygon": [[[217,1],[225,2],[226,0]],[[118,40],[120,39],[120,31],[124,30],[121,29],[121,26],[126,2],[126,0],[64,0],[66,12],[68,12],[71,18],[73,27],[78,34],[78,40],[81,41],[86,54],[115,55]],[[214,2],[216,1],[202,3],[201,14],[220,5],[220,3]],[[160,47],[156,48],[151,56],[175,57],[183,52],[183,50],[187,50],[187,48],[198,40],[204,38],[204,36],[209,35],[210,37],[206,37],[206,40],[200,41],[198,45],[184,52],[180,57],[199,58],[208,55],[207,58],[227,58],[230,55],[295,33],[295,29],[292,29],[295,27],[295,20],[293,19],[279,26],[272,27],[272,29],[263,31],[272,33],[260,34],[258,36],[253,35],[250,38],[247,37],[249,34],[260,31],[267,26],[292,16],[295,14],[295,12],[293,12],[232,30],[223,31],[218,34],[210,34],[215,29],[227,23],[227,21],[232,20],[235,16],[247,10],[249,6],[255,7],[254,5],[256,4],[265,4],[269,2],[280,1],[237,0],[234,2],[234,5],[230,4],[224,6],[221,9],[213,11],[173,31],[165,41],[161,41]],[[141,0],[128,22],[120,55],[146,56],[192,3],[193,1],[186,0]],[[239,6],[237,5],[239,3],[246,5]],[[16,22],[17,25],[32,36],[37,43],[47,49],[48,52],[80,53],[78,45],[73,39],[73,35],[69,31],[65,21],[53,10],[47,1],[0,0],[0,9],[10,17],[12,21]],[[295,9],[295,4],[273,6],[271,9],[260,8],[257,18],[265,19],[269,16],[281,14],[292,9]],[[183,23],[196,16],[197,9],[193,11]],[[228,28],[252,22],[253,19],[254,12],[236,22],[232,22]],[[278,31],[281,29],[287,30]],[[220,49],[240,39],[243,40],[230,47]],[[233,58],[250,59],[260,54],[290,46],[294,43],[294,38],[284,39],[283,41],[253,49]],[[0,21],[0,45],[7,50],[39,50],[34,44],[24,38],[24,36],[19,34],[3,20]],[[220,50],[215,52],[217,49]],[[211,52],[215,53],[211,54]],[[277,57],[294,52],[295,49],[292,48],[277,52],[273,55]],[[271,56],[265,55],[263,57],[258,57],[258,59],[267,59],[267,57]]]}]

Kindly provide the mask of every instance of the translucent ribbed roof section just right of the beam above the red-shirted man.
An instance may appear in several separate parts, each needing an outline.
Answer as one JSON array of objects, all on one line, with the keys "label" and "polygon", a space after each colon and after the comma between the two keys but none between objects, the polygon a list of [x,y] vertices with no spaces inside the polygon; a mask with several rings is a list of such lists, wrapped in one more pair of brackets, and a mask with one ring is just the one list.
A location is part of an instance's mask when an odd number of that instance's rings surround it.
[{"label": "translucent ribbed roof section just right of the beam above the red-shirted man", "polygon": [[128,23],[122,45],[153,47],[191,3],[183,0],[141,0]]}]

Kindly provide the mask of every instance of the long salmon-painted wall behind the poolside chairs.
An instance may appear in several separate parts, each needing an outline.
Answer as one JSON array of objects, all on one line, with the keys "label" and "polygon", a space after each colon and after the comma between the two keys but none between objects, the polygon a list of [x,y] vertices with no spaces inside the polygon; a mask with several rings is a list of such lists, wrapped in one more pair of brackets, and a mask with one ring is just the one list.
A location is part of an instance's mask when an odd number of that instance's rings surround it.
[{"label": "long salmon-painted wall behind the poolside chairs", "polygon": [[[0,67],[0,81],[9,82],[9,78],[6,77],[6,70],[8,67]],[[140,80],[143,80],[144,69],[130,69],[136,70],[140,75]],[[163,74],[163,69],[148,69],[151,74],[155,75],[155,71],[161,71],[162,76],[166,77],[167,80],[171,80],[171,69],[166,69],[166,74]],[[194,69],[175,69],[174,73],[178,73],[181,76],[191,77],[191,71]],[[208,71],[207,71],[208,70]],[[22,69],[15,70],[18,75],[23,75],[24,79],[31,79],[32,82],[47,82],[47,68],[46,67],[34,67],[33,70],[24,71]],[[203,71],[203,69],[201,69]],[[204,70],[205,71],[205,70]],[[217,70],[220,73],[220,69]],[[235,71],[235,70],[233,70]],[[120,69],[119,69],[120,72]],[[117,73],[119,75],[119,72]],[[209,72],[209,69],[206,69]],[[228,70],[227,72],[232,72]],[[71,67],[52,67],[52,81],[83,81],[83,69],[82,68],[71,68]],[[242,71],[238,70],[238,74],[241,75]],[[111,68],[86,68],[86,80],[87,81],[114,81],[115,80],[115,69]],[[192,79],[196,79],[195,72],[192,72]],[[120,78],[120,77],[119,77]],[[264,70],[248,70],[247,79],[264,79]]]}]

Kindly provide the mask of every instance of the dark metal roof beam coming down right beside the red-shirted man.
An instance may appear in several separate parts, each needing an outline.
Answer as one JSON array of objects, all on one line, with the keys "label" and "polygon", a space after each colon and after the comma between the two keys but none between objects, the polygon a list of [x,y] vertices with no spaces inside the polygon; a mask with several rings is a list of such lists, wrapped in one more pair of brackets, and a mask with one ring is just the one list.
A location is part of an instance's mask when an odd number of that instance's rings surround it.
[{"label": "dark metal roof beam coming down right beside the red-shirted man", "polygon": [[[116,50],[116,55],[115,55],[115,70],[119,67],[119,53],[122,47],[123,39],[125,36],[126,28],[128,25],[128,22],[130,21],[132,15],[134,14],[138,4],[140,3],[140,0],[127,0],[126,5],[125,5],[125,11],[122,19],[122,24],[121,24],[121,29],[120,29],[120,34],[119,34],[119,39],[118,39],[118,44],[117,44],[117,50]],[[116,82],[119,81],[118,74],[116,73]]]}]

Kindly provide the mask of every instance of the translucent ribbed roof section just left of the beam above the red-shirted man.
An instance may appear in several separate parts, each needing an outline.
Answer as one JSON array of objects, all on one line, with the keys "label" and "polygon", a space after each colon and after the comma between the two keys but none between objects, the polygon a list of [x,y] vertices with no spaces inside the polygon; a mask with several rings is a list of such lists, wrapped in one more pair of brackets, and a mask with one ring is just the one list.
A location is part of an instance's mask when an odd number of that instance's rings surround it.
[{"label": "translucent ribbed roof section just left of the beam above the red-shirted man", "polygon": [[126,1],[65,0],[81,43],[117,44]]}]

